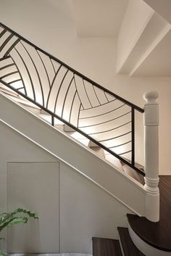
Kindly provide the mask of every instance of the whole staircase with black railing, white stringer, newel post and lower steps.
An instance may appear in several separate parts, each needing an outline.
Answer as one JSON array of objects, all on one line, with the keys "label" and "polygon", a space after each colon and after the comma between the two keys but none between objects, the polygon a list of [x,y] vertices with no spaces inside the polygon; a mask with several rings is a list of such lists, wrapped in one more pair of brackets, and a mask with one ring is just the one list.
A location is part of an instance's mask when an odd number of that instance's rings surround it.
[{"label": "whole staircase with black railing, white stringer, newel post and lower steps", "polygon": [[[157,93],[145,95],[144,111],[1,23],[0,39],[1,121],[93,181],[138,218],[146,215],[157,222]],[[135,160],[136,112],[145,112],[145,168]],[[20,117],[25,117],[24,124]],[[118,227],[118,234],[120,242],[93,237],[93,256],[143,255],[130,238],[131,229]]]}]

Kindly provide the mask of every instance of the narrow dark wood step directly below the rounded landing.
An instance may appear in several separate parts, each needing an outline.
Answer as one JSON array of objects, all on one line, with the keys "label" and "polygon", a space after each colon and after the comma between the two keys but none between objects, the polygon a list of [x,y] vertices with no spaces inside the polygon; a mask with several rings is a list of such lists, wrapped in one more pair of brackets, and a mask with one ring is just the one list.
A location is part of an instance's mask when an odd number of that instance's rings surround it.
[{"label": "narrow dark wood step directly below the rounded landing", "polygon": [[120,241],[125,256],[145,256],[137,247],[135,247],[135,244],[133,244],[128,228],[118,227],[117,230],[120,234]]}]

